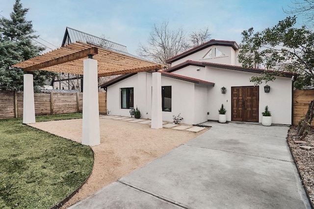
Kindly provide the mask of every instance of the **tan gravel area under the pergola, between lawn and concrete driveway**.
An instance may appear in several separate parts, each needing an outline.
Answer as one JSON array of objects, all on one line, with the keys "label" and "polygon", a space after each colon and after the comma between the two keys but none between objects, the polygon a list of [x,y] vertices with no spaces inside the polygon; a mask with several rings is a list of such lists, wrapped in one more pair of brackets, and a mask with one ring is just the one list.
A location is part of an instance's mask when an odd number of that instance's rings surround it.
[{"label": "tan gravel area under the pergola, between lawn and concrete driveway", "polygon": [[[82,119],[39,122],[31,126],[82,141]],[[198,133],[165,128],[156,130],[146,124],[100,118],[101,144],[92,147],[95,153],[92,174],[62,208],[77,203],[207,130]]]}]

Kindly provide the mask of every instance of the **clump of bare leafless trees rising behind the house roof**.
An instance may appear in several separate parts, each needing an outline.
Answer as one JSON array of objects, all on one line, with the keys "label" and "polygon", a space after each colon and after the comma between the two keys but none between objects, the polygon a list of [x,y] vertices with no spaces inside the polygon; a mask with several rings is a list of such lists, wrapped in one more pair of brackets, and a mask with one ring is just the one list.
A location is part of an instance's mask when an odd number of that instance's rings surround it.
[{"label": "clump of bare leafless trees rising behind the house roof", "polygon": [[188,38],[182,27],[170,30],[168,24],[168,21],[163,21],[160,25],[154,24],[147,46],[140,43],[136,51],[140,57],[167,65],[166,60],[171,57],[209,40],[208,28],[193,32]]}]

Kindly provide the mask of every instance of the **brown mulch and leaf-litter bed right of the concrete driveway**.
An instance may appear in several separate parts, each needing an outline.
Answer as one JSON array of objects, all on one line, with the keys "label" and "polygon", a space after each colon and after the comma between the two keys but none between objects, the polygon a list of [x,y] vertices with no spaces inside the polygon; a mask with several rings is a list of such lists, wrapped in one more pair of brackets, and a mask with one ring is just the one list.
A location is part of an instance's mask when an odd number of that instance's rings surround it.
[{"label": "brown mulch and leaf-litter bed right of the concrete driveway", "polygon": [[[301,149],[301,146],[304,145],[314,147],[314,129],[312,128],[310,133],[304,139],[300,139],[300,137],[297,137],[296,135],[296,127],[291,126],[288,132],[288,144],[299,168],[302,183],[309,193],[312,204],[314,204],[314,150]],[[304,140],[308,142],[308,144],[294,142],[298,140]]]}]

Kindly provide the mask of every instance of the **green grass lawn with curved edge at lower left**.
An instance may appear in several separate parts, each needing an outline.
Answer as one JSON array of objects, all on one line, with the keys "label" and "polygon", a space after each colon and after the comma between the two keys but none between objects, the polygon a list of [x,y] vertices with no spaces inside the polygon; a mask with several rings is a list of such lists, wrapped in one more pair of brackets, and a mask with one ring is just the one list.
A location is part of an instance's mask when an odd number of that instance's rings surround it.
[{"label": "green grass lawn with curved edge at lower left", "polygon": [[93,162],[89,146],[23,125],[22,118],[0,120],[0,208],[51,208],[85,181]]}]

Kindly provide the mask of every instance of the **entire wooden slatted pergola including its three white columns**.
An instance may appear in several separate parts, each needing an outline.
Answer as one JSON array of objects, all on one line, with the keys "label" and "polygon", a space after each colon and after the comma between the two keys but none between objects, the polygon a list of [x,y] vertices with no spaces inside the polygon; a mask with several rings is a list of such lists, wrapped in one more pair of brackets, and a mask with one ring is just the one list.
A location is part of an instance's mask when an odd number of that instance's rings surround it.
[{"label": "entire wooden slatted pergola including its three white columns", "polygon": [[[100,144],[97,77],[160,70],[165,66],[131,56],[126,52],[77,42],[13,67],[23,68],[25,72],[47,70],[84,75],[82,143],[93,146]],[[160,73],[154,72],[152,128],[162,128],[160,89]],[[32,74],[24,74],[23,105],[23,123],[36,122]]]}]

